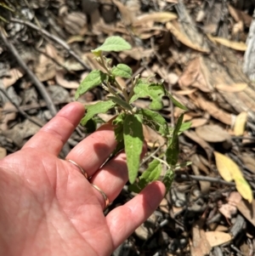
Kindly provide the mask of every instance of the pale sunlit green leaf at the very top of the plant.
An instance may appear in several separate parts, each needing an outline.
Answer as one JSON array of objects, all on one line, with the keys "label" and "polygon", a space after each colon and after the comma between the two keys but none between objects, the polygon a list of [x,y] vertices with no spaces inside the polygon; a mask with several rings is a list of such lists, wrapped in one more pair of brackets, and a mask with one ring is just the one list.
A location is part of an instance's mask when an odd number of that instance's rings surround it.
[{"label": "pale sunlit green leaf at the very top of the plant", "polygon": [[122,37],[108,37],[99,48],[92,50],[93,53],[97,54],[99,51],[105,52],[120,52],[124,50],[130,50],[132,46],[127,43]]}]

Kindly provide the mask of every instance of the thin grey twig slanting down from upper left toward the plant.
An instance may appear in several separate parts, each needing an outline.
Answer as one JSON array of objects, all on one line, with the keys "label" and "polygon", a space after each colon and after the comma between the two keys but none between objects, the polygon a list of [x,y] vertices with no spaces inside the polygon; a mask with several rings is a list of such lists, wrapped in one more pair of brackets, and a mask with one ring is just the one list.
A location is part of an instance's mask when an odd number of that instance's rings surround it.
[{"label": "thin grey twig slanting down from upper left toward the plant", "polygon": [[38,32],[41,32],[42,35],[50,38],[51,40],[53,40],[54,42],[56,43],[59,43],[59,45],[61,45],[63,48],[65,48],[68,53],[73,57],[75,58],[84,68],[86,68],[88,71],[91,70],[91,67],[89,67],[71,48],[70,46],[65,43],[65,41],[63,41],[62,39],[60,39],[59,37],[55,37],[54,35],[50,34],[48,31],[45,31],[41,28],[39,28],[38,26],[32,24],[31,22],[29,21],[26,21],[26,20],[20,20],[20,19],[17,19],[17,18],[11,18],[10,19],[11,21],[13,22],[16,22],[16,23],[20,23],[22,25],[26,25],[26,26],[30,26],[32,29],[38,31]]}]

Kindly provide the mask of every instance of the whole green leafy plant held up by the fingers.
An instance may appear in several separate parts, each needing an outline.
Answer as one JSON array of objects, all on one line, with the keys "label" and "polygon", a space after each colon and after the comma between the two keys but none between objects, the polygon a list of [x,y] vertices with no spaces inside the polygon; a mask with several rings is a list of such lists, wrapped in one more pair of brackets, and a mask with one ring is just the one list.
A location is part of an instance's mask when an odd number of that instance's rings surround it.
[{"label": "whole green leafy plant held up by the fingers", "polygon": [[[109,96],[107,100],[86,106],[87,111],[81,124],[89,128],[91,124],[96,123],[99,113],[114,109],[116,117],[113,124],[117,145],[113,155],[123,149],[126,152],[128,178],[131,184],[129,188],[139,192],[145,185],[162,177],[161,180],[168,191],[173,181],[173,171],[178,162],[178,135],[181,131],[189,128],[190,124],[183,123],[184,113],[182,113],[178,117],[175,128],[168,127],[165,118],[158,113],[163,108],[161,98],[165,95],[169,100],[172,100],[173,105],[184,111],[186,108],[173,98],[162,82],[150,82],[150,79],[140,78],[139,75],[133,77],[132,69],[128,65],[111,66],[111,59],[107,59],[103,54],[104,52],[120,52],[131,48],[131,45],[122,37],[108,37],[99,48],[92,50],[95,60],[103,71],[91,71],[77,88],[75,98],[77,100],[82,94],[86,94],[88,90],[98,86],[104,88]],[[130,88],[122,87],[116,81],[116,77],[131,79]],[[149,109],[139,109],[133,106],[135,100],[144,97],[149,97],[151,100]],[[166,139],[167,150],[161,156],[151,158],[149,168],[138,177],[140,154],[144,144],[143,124]],[[161,160],[160,157],[164,157],[165,160]],[[161,174],[162,164],[167,166],[167,171],[163,175]]]}]

